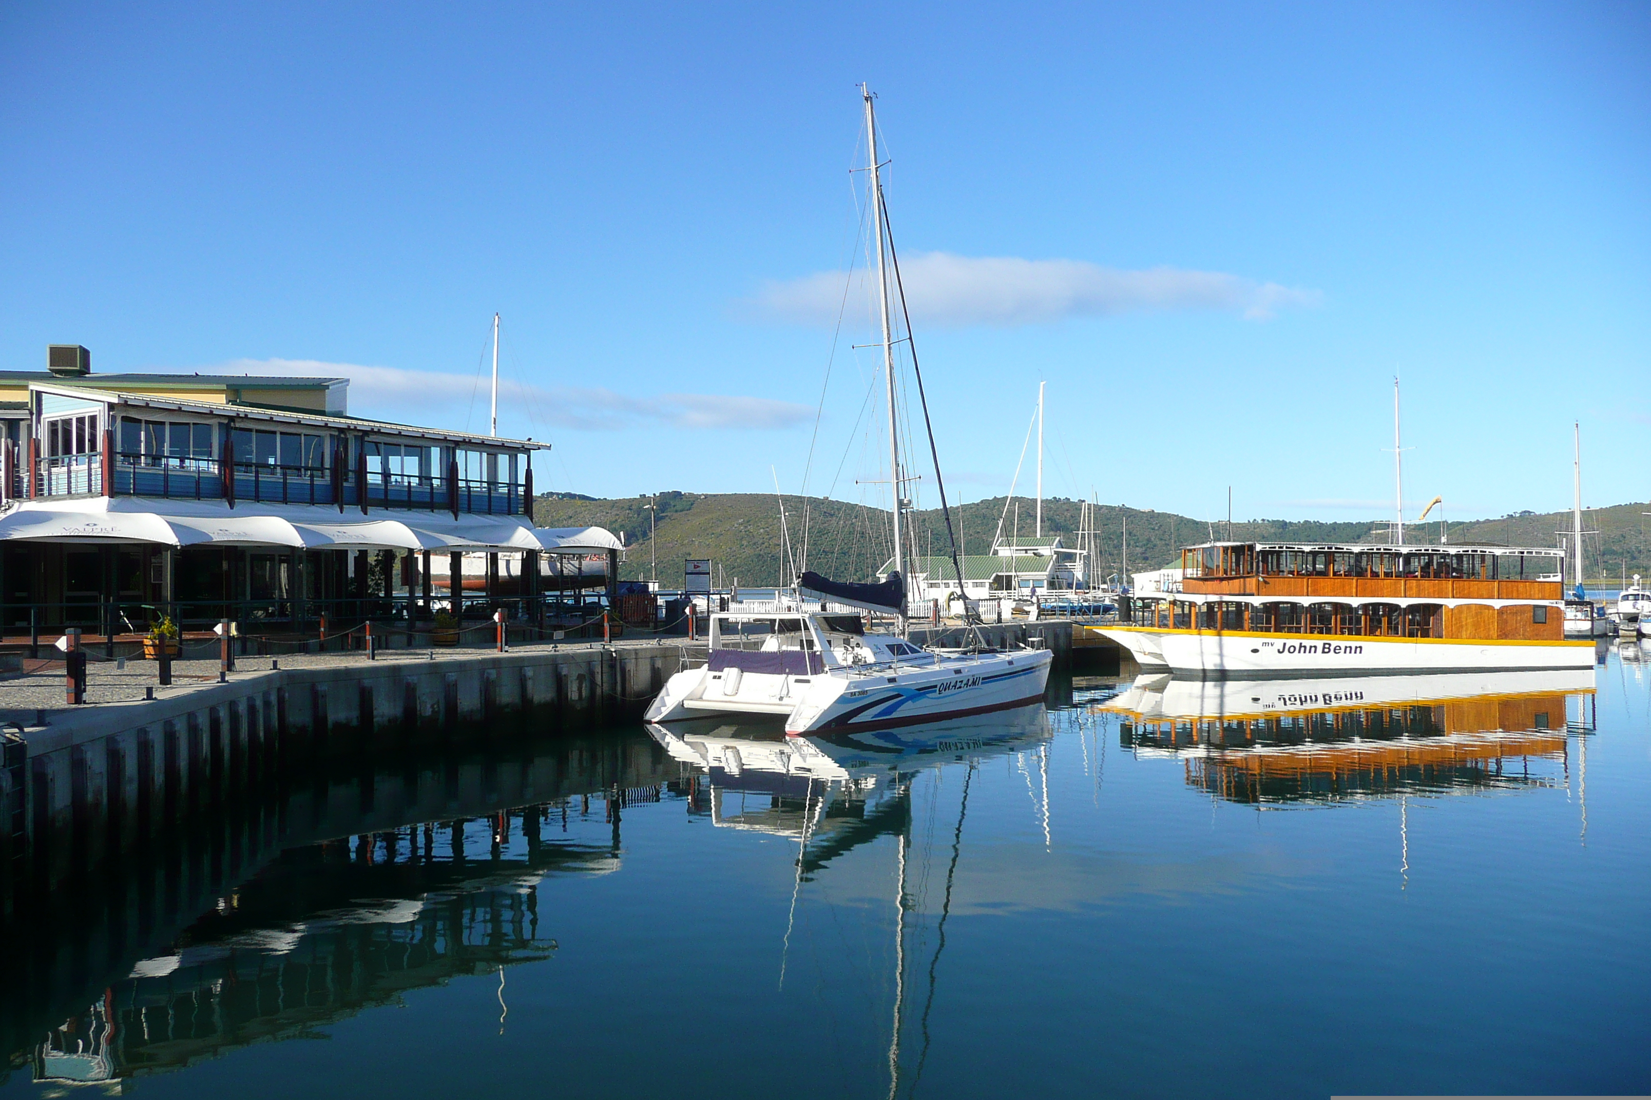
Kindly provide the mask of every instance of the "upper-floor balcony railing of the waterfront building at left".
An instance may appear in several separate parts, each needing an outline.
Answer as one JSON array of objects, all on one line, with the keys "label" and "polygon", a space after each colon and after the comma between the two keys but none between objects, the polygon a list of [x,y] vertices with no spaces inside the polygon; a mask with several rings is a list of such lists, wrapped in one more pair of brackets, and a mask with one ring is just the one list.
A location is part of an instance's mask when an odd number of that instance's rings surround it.
[{"label": "upper-floor balcony railing of the waterfront building at left", "polygon": [[[114,454],[54,455],[35,460],[33,487],[21,472],[7,487],[12,496],[158,496],[168,500],[233,500],[263,505],[343,505],[411,508],[513,516],[523,515],[527,490],[512,482],[322,467],[284,467],[236,462],[225,491],[221,458]],[[365,475],[365,480],[363,480]],[[30,493],[33,488],[33,493]]]}]

